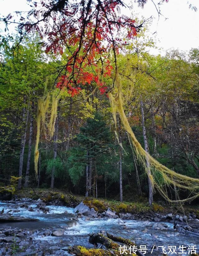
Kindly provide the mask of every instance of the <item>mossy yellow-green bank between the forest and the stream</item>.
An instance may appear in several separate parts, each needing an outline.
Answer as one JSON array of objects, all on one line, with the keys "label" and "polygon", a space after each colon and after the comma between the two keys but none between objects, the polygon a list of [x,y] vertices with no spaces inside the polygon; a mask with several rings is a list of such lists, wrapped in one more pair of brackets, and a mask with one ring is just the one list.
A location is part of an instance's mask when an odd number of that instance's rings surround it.
[{"label": "mossy yellow-green bank between the forest and the stream", "polygon": [[[80,195],[73,195],[72,193],[66,193],[64,190],[59,189],[44,189],[44,188],[23,188],[20,191],[16,191],[16,196],[23,198],[32,198],[34,200],[42,199],[44,202],[49,203],[50,201],[59,200],[65,206],[76,206],[81,201],[83,201],[90,208],[94,208],[96,211],[102,213],[108,208],[117,213],[132,213],[132,214],[141,214],[141,213],[161,213],[166,214],[171,212],[171,208],[169,205],[166,205],[165,202],[154,202],[152,207],[148,205],[148,200],[145,197],[138,197],[137,199],[133,199],[132,201],[124,201],[123,203],[118,200],[111,199],[96,199],[92,197],[84,197]],[[194,213],[197,218],[199,218],[199,207],[198,205],[183,206],[184,211],[179,205],[175,205],[173,210],[175,213],[187,214]]]}]

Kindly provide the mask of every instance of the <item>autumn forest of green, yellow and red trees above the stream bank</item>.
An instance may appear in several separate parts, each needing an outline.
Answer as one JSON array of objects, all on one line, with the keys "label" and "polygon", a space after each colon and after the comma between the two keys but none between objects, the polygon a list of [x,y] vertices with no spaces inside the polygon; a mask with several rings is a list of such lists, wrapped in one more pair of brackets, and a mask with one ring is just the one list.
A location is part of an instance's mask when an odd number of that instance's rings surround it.
[{"label": "autumn forest of green, yellow and red trees above the stream bank", "polygon": [[123,6],[34,2],[18,34],[1,36],[2,184],[19,176],[18,189],[150,205],[198,197],[199,49],[149,54],[150,21],[120,15]]}]

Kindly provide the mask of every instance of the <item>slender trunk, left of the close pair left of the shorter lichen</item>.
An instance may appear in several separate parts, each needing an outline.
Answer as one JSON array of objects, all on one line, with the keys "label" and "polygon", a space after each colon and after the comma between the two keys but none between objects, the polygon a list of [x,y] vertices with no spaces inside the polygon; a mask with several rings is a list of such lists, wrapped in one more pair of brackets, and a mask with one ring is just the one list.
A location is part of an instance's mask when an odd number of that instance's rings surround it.
[{"label": "slender trunk, left of the close pair left of the shorter lichen", "polygon": [[[25,98],[24,98],[24,104],[25,104]],[[24,134],[21,138],[21,149],[20,149],[20,159],[19,159],[19,177],[22,175],[22,169],[23,169],[23,160],[24,160],[24,150],[25,150],[25,138],[26,138],[26,133],[27,133],[27,128],[28,128],[28,117],[29,117],[29,104],[28,104],[28,109],[26,113],[26,120],[25,120],[25,107],[23,109],[23,121],[25,121],[25,131]],[[21,189],[21,178],[18,181],[18,189]]]}]

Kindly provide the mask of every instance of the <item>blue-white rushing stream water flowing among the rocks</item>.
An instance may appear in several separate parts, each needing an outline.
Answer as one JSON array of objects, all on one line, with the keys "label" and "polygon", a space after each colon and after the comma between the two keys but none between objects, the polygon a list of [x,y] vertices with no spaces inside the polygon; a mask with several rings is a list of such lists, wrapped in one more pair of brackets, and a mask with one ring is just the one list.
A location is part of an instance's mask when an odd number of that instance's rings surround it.
[{"label": "blue-white rushing stream water flowing among the rocks", "polygon": [[[75,220],[76,215],[74,215],[73,208],[47,205],[46,207],[49,207],[50,210],[49,213],[44,214],[42,210],[36,208],[37,201],[28,202],[33,209],[35,208],[34,212],[21,208],[20,205],[22,203],[24,202],[19,201],[16,204],[0,203],[0,211],[2,209],[4,209],[4,212],[7,212],[8,210],[20,210],[19,212],[12,213],[12,215],[36,218],[39,221],[1,223],[1,229],[4,227],[28,229],[31,231],[30,233],[33,239],[45,240],[51,245],[54,244],[60,247],[67,245],[83,245],[91,248],[93,245],[88,242],[88,234],[92,232],[107,231],[111,234],[135,241],[138,247],[140,245],[146,245],[149,255],[151,255],[150,252],[153,245],[166,247],[168,247],[168,245],[172,245],[177,248],[180,245],[195,245],[197,249],[199,249],[199,237],[188,236],[175,232],[172,223],[161,222],[168,225],[168,227],[163,230],[156,230],[154,228],[156,223],[150,221],[120,219],[92,219],[89,221],[81,219]],[[27,202],[25,201],[25,203]],[[68,212],[67,214],[64,213],[66,210]],[[59,237],[44,236],[43,232],[48,229],[51,232],[55,229],[64,229],[64,235]],[[187,253],[179,255],[188,255],[188,250]]]}]

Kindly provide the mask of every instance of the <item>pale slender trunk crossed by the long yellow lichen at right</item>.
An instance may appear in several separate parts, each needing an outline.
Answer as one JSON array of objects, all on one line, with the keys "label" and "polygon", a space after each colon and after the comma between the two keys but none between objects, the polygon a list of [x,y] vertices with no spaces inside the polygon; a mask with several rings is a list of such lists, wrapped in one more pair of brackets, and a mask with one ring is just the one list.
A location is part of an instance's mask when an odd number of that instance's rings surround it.
[{"label": "pale slender trunk crossed by the long yellow lichen at right", "polygon": [[[146,137],[146,128],[145,128],[145,118],[144,118],[144,106],[143,106],[143,102],[141,100],[140,102],[141,105],[141,116],[142,116],[142,132],[143,132],[143,138],[144,138],[144,148],[146,152],[149,152],[148,150],[148,142],[147,142],[147,137]],[[153,187],[152,187],[152,183],[150,180],[150,165],[149,165],[149,161],[146,158],[146,168],[147,168],[147,175],[148,175],[148,185],[149,185],[149,205],[152,205],[153,203]]]}]

